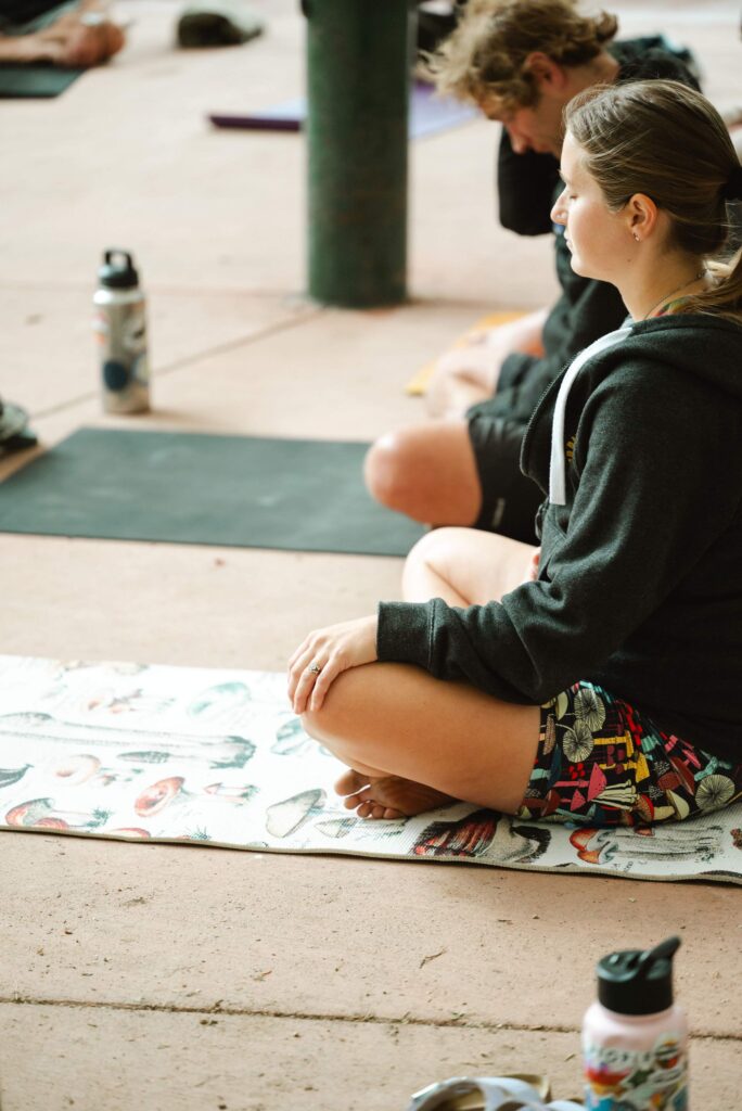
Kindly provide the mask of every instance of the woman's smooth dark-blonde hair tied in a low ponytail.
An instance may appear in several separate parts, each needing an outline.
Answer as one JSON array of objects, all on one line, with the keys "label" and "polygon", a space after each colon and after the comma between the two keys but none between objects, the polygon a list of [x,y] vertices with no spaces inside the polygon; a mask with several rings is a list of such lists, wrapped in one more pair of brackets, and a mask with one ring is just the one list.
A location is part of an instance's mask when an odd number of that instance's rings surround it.
[{"label": "woman's smooth dark-blonde hair tied in a low ponytail", "polygon": [[726,206],[742,199],[742,169],[716,109],[678,81],[630,81],[579,93],[564,124],[612,211],[634,193],[651,197],[670,217],[672,246],[709,262],[715,286],[675,311],[738,320],[742,251],[729,263],[719,259],[732,227]]}]

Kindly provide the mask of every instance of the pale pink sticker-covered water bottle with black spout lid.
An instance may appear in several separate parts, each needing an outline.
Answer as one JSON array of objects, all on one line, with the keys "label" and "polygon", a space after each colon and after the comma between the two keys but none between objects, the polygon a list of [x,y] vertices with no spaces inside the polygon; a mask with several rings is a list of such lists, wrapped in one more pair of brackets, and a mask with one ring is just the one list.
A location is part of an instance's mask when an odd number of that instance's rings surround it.
[{"label": "pale pink sticker-covered water bottle with black spout lid", "polygon": [[582,1027],[585,1108],[688,1111],[688,1021],[672,998],[680,938],[598,962],[598,1002]]}]

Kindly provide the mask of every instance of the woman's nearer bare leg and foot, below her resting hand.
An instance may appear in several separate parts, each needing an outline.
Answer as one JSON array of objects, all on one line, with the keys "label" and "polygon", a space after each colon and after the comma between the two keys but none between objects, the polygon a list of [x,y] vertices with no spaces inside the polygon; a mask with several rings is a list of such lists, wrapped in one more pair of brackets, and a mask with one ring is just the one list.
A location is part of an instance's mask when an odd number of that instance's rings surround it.
[{"label": "woman's nearer bare leg and foot, below her resting hand", "polygon": [[538,707],[402,663],[344,671],[303,722],[353,769],[339,785],[360,817],[420,813],[455,799],[515,813],[539,741]]}]

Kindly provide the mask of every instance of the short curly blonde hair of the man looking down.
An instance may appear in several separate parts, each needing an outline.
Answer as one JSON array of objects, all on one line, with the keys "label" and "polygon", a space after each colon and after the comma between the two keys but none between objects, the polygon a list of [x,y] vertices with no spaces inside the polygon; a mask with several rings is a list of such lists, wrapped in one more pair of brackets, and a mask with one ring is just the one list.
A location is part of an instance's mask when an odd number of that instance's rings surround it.
[{"label": "short curly blonde hair of the man looking down", "polygon": [[499,98],[504,111],[513,111],[539,101],[529,54],[541,51],[560,66],[583,66],[618,26],[605,12],[579,16],[576,0],[471,0],[425,66],[440,92],[461,100]]}]

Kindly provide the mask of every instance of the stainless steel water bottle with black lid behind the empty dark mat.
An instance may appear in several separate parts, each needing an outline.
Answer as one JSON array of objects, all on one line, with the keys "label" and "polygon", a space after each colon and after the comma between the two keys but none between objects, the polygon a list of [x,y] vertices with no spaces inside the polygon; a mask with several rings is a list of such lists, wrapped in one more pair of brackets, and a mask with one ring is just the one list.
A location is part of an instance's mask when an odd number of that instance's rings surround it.
[{"label": "stainless steel water bottle with black lid behind the empty dark mat", "polygon": [[147,312],[129,251],[106,251],[93,297],[103,409],[142,413],[150,407]]}]

